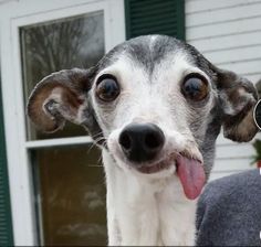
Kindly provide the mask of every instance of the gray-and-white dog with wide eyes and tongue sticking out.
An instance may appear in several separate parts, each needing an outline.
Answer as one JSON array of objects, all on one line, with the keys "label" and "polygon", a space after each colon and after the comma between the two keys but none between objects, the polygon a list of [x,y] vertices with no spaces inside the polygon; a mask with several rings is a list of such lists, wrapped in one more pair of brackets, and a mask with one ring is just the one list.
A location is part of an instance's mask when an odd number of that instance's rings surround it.
[{"label": "gray-and-white dog with wide eyes and tongue sticking out", "polygon": [[45,132],[66,120],[81,125],[102,148],[108,245],[191,246],[216,139],[222,128],[233,141],[250,141],[257,99],[252,83],[194,46],[145,35],[91,68],[43,78],[28,115]]}]

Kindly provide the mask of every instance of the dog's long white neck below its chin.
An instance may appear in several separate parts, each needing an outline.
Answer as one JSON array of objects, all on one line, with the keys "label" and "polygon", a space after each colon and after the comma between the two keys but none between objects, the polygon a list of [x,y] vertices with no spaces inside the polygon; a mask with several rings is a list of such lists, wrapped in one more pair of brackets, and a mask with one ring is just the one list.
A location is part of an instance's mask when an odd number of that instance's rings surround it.
[{"label": "dog's long white neck below its chin", "polygon": [[123,171],[103,150],[107,185],[108,245],[192,245],[196,200],[175,175],[146,181]]}]

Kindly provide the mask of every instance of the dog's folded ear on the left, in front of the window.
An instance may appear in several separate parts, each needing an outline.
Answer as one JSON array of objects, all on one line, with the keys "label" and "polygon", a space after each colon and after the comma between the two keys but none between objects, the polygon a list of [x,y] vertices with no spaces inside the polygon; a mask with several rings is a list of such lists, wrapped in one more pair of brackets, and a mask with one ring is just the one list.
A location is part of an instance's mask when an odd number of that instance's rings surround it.
[{"label": "dog's folded ear on the left, in front of the window", "polygon": [[45,132],[61,129],[65,120],[85,125],[91,118],[87,92],[90,69],[64,69],[44,77],[33,89],[28,115]]}]

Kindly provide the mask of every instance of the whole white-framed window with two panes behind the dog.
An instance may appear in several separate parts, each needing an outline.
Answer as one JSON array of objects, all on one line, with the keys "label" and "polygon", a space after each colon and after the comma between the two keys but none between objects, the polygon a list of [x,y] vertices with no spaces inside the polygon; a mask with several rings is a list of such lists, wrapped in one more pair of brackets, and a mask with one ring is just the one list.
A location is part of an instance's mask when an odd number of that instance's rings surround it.
[{"label": "whole white-framed window with two panes behind the dog", "polygon": [[24,108],[41,78],[64,68],[90,67],[124,41],[123,1],[13,4],[17,8],[9,8],[8,21],[1,23],[1,41],[8,51],[2,69],[14,244],[105,245],[100,150],[71,124],[53,135],[38,131]]}]

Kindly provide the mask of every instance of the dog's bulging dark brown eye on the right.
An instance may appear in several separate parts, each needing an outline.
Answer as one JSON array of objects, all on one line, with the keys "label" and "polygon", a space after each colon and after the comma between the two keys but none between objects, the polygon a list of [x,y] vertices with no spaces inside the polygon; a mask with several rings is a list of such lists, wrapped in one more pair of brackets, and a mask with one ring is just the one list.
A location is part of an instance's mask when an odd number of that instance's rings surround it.
[{"label": "dog's bulging dark brown eye on the right", "polygon": [[181,90],[186,98],[200,101],[208,95],[208,82],[201,75],[190,74],[185,77]]}]

